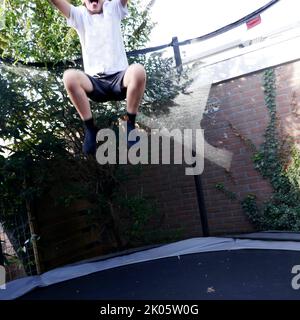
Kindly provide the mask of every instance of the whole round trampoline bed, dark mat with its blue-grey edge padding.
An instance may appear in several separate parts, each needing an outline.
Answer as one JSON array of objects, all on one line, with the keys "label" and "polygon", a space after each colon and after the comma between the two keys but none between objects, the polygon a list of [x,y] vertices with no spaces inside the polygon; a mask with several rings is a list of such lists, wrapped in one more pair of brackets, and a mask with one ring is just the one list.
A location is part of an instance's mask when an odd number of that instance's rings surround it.
[{"label": "whole round trampoline bed, dark mat with its blue-grey edge padding", "polygon": [[192,238],[18,279],[0,290],[0,298],[296,300],[296,265],[299,233]]}]

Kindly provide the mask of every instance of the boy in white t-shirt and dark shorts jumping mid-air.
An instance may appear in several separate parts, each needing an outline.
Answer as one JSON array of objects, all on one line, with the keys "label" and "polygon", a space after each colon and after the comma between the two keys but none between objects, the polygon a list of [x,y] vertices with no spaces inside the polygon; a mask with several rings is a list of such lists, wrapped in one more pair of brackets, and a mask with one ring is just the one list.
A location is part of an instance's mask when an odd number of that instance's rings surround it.
[{"label": "boy in white t-shirt and dark shorts jumping mid-air", "polygon": [[[121,34],[121,20],[128,14],[128,0],[82,0],[75,7],[67,0],[50,0],[67,18],[79,36],[84,72],[66,70],[64,85],[84,122],[83,152],[96,153],[97,129],[89,99],[96,102],[127,101],[127,136],[135,128],[135,117],[145,91],[142,65],[128,65]],[[130,147],[136,141],[127,141]]]}]

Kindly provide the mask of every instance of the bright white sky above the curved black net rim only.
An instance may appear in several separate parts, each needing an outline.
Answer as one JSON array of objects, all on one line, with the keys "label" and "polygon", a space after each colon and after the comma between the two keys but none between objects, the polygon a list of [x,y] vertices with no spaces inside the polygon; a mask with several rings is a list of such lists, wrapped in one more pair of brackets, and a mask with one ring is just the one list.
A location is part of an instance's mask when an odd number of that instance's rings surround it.
[{"label": "bright white sky above the curved black net rim only", "polygon": [[268,0],[156,0],[152,19],[157,26],[151,44],[198,37],[254,11]]}]

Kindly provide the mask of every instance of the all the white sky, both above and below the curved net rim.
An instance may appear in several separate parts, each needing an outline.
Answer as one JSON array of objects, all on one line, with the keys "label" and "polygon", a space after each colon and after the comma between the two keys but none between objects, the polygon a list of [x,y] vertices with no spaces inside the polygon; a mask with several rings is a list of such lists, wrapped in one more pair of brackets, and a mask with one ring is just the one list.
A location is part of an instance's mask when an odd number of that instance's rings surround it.
[{"label": "all the white sky, both above and below the curved net rim", "polygon": [[[149,0],[144,0],[148,3]],[[270,0],[156,0],[151,10],[157,23],[150,46],[195,38],[232,23],[257,10]],[[300,19],[299,0],[280,0],[262,16],[257,33]],[[241,31],[246,32],[246,26]],[[253,31],[251,31],[254,33]]]}]

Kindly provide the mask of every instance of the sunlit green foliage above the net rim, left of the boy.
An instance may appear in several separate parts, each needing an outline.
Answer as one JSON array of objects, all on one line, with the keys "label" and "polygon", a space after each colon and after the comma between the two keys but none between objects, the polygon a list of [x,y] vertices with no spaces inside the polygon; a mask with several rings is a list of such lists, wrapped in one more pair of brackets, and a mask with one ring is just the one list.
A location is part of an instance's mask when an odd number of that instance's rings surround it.
[{"label": "sunlit green foliage above the net rim, left of the boy", "polygon": [[7,0],[5,18],[1,37],[6,45],[0,47],[3,57],[46,63],[80,55],[76,32],[47,0]]}]

